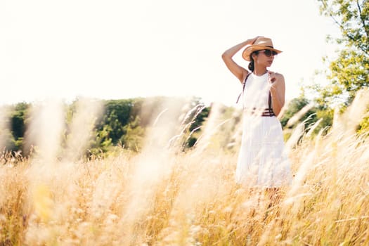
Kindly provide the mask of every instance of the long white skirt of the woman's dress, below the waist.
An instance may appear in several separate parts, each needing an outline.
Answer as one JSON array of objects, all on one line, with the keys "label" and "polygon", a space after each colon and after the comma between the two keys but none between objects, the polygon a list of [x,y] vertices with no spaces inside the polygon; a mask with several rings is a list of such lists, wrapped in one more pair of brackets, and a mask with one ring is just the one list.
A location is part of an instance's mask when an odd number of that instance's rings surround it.
[{"label": "long white skirt of the woman's dress, below the waist", "polygon": [[290,162],[277,117],[243,116],[242,142],[235,172],[247,187],[278,188],[291,183]]}]

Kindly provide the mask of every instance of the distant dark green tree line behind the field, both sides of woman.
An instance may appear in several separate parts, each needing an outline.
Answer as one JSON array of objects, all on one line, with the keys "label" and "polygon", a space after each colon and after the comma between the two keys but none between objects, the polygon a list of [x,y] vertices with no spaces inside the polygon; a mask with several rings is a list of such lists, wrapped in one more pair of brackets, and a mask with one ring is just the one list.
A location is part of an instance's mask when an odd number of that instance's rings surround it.
[{"label": "distant dark green tree line behind the field, both sides of woman", "polygon": [[[204,126],[209,112],[212,110],[212,105],[204,105],[200,98],[129,98],[121,100],[101,100],[103,105],[103,113],[96,119],[93,127],[91,141],[89,142],[89,153],[91,155],[100,155],[108,153],[116,146],[129,150],[139,151],[143,146],[143,140],[146,131],[152,126],[157,115],[160,115],[162,110],[165,110],[169,102],[169,112],[171,118],[178,119],[174,124],[179,124],[179,127],[187,127],[186,139],[183,143],[183,150],[193,147],[198,140],[198,133]],[[63,133],[63,139],[67,139],[69,134],[69,125],[72,117],[76,112],[78,100],[64,105],[64,122],[66,131]],[[294,125],[287,125],[289,119],[306,107],[310,102],[300,96],[294,98],[289,105],[285,114],[280,119],[284,128],[292,128]],[[176,104],[176,105],[175,105]],[[186,105],[183,108],[183,105]],[[32,143],[25,143],[27,140],[27,127],[32,122],[32,105],[31,103],[17,103],[8,105],[2,108],[2,126],[0,135],[3,141],[3,150],[21,153],[22,155],[30,154],[30,146]],[[182,108],[182,109],[181,109]],[[233,107],[224,106],[224,117],[232,117],[232,112],[236,110]],[[181,109],[181,110],[179,110]],[[194,110],[195,109],[195,110]],[[227,113],[228,111],[229,113]],[[185,117],[181,115],[186,115]],[[328,116],[327,116],[328,115]],[[319,118],[325,117],[326,121],[321,125],[321,128],[331,124],[330,114],[324,108],[313,107],[304,113],[297,123],[304,122],[304,125],[309,128],[309,125],[315,123]],[[296,123],[296,124],[297,124]],[[170,124],[165,122],[165,124]],[[318,131],[318,129],[317,129]]]}]

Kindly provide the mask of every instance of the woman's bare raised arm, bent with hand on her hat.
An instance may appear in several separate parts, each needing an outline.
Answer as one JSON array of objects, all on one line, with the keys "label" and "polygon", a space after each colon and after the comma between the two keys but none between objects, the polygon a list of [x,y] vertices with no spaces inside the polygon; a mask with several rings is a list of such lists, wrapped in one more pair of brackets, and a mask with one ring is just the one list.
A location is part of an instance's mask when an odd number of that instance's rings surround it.
[{"label": "woman's bare raised arm, bent with hand on her hat", "polygon": [[224,63],[226,63],[228,70],[230,70],[233,75],[235,75],[235,77],[240,80],[241,83],[243,82],[243,79],[245,79],[248,71],[235,63],[235,61],[233,60],[233,56],[235,55],[235,53],[240,51],[241,48],[247,46],[247,44],[254,44],[254,41],[257,40],[257,38],[258,37],[254,37],[254,39],[247,39],[246,41],[243,41],[242,43],[237,44],[232,48],[228,48],[228,50],[224,51],[224,53],[221,55],[221,58],[224,60]]}]

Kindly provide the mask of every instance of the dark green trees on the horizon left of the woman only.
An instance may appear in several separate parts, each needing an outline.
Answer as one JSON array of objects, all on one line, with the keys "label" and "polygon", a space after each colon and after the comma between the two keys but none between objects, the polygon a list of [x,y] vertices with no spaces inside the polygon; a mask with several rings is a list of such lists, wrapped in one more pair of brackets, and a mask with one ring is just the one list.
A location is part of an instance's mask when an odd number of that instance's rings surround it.
[{"label": "dark green trees on the horizon left of the woman only", "polygon": [[[115,150],[116,146],[127,148],[129,150],[138,151],[143,145],[145,129],[153,124],[155,118],[160,115],[160,112],[165,111],[166,114],[173,116],[176,122],[167,122],[165,117],[160,120],[164,124],[174,124],[179,126],[181,130],[181,121],[183,124],[188,124],[190,131],[200,131],[202,122],[209,115],[209,108],[206,108],[200,103],[199,98],[133,98],[122,100],[106,100],[103,101],[103,114],[96,119],[93,129],[93,138],[89,141],[89,150],[86,156],[105,155]],[[169,109],[167,106],[169,105]],[[3,145],[1,148],[6,150],[18,151],[22,150],[24,155],[28,155],[29,151],[24,150],[23,137],[27,128],[27,123],[30,122],[29,110],[31,105],[27,103],[18,103],[16,105],[2,108],[2,112],[6,112],[6,117],[2,125],[9,125],[10,129],[0,129],[1,140]],[[186,115],[190,108],[202,108],[198,112],[192,112],[187,119],[181,118],[181,115]],[[181,109],[182,110],[179,110]],[[77,110],[77,101],[70,105],[65,105],[65,132],[63,133],[63,142],[61,148],[65,148],[67,136],[70,134],[70,124]],[[177,120],[175,120],[177,119]],[[188,140],[188,146],[195,143],[196,136],[183,135]],[[192,141],[192,142],[191,142]],[[187,147],[188,147],[187,146]]]}]

